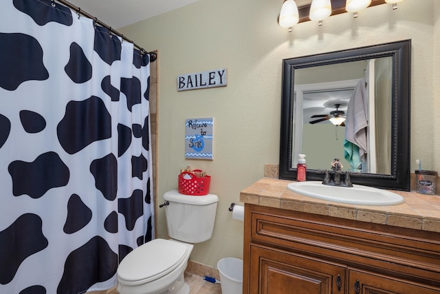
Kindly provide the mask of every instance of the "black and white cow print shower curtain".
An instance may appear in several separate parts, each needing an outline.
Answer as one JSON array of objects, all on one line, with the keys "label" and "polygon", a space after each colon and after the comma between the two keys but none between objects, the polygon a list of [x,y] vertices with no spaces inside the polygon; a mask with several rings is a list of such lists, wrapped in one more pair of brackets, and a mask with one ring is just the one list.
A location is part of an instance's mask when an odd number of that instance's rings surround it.
[{"label": "black and white cow print shower curtain", "polygon": [[0,293],[111,288],[154,236],[148,54],[50,0],[0,1]]}]

